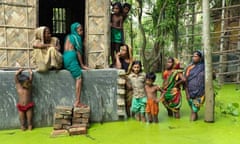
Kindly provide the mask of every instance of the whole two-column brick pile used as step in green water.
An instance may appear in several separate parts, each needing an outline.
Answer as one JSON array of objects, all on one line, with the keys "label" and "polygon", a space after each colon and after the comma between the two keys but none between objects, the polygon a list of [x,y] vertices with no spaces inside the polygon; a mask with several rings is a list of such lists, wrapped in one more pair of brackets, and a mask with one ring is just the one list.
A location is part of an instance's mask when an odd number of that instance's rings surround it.
[{"label": "whole two-column brick pile used as step in green water", "polygon": [[89,127],[90,107],[72,108],[58,106],[54,113],[52,136],[81,135]]}]

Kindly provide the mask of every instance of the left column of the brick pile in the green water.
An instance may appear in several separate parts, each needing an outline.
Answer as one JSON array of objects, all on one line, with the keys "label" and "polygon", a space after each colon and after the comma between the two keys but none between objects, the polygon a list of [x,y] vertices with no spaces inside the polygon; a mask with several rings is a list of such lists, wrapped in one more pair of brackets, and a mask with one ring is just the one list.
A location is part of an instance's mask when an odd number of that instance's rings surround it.
[{"label": "left column of the brick pile in the green water", "polygon": [[68,135],[67,129],[72,123],[72,107],[57,106],[54,113],[52,135]]}]

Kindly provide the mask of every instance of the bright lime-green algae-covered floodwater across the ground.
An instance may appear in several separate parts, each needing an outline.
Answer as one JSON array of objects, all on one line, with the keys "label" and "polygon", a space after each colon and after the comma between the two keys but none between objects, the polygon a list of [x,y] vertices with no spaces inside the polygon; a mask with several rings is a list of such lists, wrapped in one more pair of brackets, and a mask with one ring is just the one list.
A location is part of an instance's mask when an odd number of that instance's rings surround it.
[{"label": "bright lime-green algae-covered floodwater across the ground", "polygon": [[[239,144],[240,118],[222,114],[218,103],[239,103],[240,91],[235,85],[225,85],[216,96],[215,122],[204,122],[204,108],[199,120],[189,121],[190,109],[183,94],[181,119],[167,117],[160,104],[159,123],[148,124],[134,119],[92,124],[87,135],[52,138],[52,127],[33,131],[0,131],[1,144]],[[239,108],[238,108],[239,109]]]}]

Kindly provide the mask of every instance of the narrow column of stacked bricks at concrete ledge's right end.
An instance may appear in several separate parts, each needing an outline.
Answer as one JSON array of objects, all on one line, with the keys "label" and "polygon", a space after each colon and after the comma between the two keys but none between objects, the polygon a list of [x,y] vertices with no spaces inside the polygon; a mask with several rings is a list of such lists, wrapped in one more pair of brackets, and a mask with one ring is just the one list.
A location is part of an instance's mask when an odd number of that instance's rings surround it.
[{"label": "narrow column of stacked bricks at concrete ledge's right end", "polygon": [[126,114],[126,106],[125,106],[125,95],[126,95],[126,72],[124,70],[118,70],[118,88],[117,88],[117,114],[118,114],[118,119],[126,119],[127,114]]}]

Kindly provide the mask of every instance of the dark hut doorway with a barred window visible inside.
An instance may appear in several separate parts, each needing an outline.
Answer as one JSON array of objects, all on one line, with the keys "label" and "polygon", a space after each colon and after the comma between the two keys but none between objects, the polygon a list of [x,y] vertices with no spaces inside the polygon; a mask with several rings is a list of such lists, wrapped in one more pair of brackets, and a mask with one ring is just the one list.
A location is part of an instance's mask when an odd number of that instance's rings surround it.
[{"label": "dark hut doorway with a barred window visible inside", "polygon": [[84,26],[85,0],[39,0],[39,26],[48,26],[52,36],[58,37],[61,52],[65,37],[73,22]]}]

